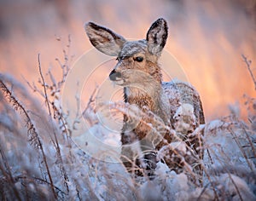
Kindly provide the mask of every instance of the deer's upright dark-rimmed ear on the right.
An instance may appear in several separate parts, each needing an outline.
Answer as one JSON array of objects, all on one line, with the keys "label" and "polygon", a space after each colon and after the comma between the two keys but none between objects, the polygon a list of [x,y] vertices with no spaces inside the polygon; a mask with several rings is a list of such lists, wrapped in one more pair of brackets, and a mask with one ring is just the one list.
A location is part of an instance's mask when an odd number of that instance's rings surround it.
[{"label": "deer's upright dark-rimmed ear on the right", "polygon": [[149,28],[147,33],[148,51],[152,55],[160,56],[166,45],[168,37],[168,26],[166,20],[160,18]]}]

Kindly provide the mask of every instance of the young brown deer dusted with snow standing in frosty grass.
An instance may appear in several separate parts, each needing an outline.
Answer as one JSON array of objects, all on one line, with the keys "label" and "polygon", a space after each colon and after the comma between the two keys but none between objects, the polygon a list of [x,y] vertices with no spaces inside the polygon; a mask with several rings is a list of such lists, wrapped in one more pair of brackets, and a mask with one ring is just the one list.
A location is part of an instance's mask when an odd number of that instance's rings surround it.
[{"label": "young brown deer dusted with snow standing in frosty grass", "polygon": [[[128,41],[94,22],[86,23],[84,29],[97,50],[117,58],[109,79],[124,88],[125,103],[148,114],[137,123],[124,114],[121,158],[128,172],[154,178],[159,161],[180,172],[185,166],[182,158],[193,155],[195,158],[188,159],[188,164],[196,174],[202,175],[203,132],[195,134],[196,128],[205,123],[201,97],[190,83],[162,81],[159,59],[168,37],[166,20],[154,21],[146,38],[137,41]],[[164,125],[160,132],[152,128],[157,123],[150,114]],[[189,155],[171,146],[175,139],[185,143]]]}]

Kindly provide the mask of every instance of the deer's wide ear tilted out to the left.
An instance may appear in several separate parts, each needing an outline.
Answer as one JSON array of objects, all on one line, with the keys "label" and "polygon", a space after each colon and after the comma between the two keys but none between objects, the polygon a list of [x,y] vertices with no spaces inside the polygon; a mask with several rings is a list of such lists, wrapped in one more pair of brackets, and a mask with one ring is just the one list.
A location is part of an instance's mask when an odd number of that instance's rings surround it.
[{"label": "deer's wide ear tilted out to the left", "polygon": [[90,43],[96,47],[96,49],[106,55],[119,55],[125,43],[124,37],[119,36],[108,28],[98,26],[93,22],[85,24],[84,29],[90,39]]}]

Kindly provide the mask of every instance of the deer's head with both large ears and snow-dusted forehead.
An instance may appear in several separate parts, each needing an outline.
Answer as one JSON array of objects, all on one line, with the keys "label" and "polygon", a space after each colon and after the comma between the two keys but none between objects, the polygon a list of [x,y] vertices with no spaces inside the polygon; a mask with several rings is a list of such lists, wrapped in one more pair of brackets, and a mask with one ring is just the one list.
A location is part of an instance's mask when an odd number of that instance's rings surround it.
[{"label": "deer's head with both large ears and snow-dusted forehead", "polygon": [[[118,63],[109,78],[119,85],[143,82],[161,83],[157,61],[165,47],[168,35],[166,20],[156,20],[146,39],[127,41],[119,34],[93,22],[85,25],[90,43],[106,55],[116,56]],[[149,77],[148,77],[149,75]]]}]

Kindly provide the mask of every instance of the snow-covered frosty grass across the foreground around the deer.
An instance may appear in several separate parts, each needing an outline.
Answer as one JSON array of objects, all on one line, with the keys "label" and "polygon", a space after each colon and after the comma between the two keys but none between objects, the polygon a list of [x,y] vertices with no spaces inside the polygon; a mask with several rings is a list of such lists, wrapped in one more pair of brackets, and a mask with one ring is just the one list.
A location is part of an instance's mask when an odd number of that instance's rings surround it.
[{"label": "snow-covered frosty grass across the foreground around the deer", "polygon": [[[1,78],[3,79],[4,76]],[[8,78],[6,78],[8,80]],[[3,79],[4,80],[4,79]],[[2,86],[3,90],[3,86]],[[26,95],[25,89],[14,88],[13,100]],[[19,91],[20,90],[20,91]],[[24,97],[24,96],[22,96]],[[9,95],[1,91],[0,98],[0,198],[59,199],[59,200],[255,200],[255,130],[230,115],[206,123],[204,129],[204,176],[202,187],[189,179],[188,173],[177,174],[162,162],[157,163],[154,180],[147,176],[135,178],[120,162],[120,137],[102,126],[96,110],[89,108],[84,117],[90,128],[83,135],[67,137],[65,123],[49,118],[37,100],[27,96],[19,100],[32,119],[44,154],[28,142],[29,132],[19,106],[12,107]],[[58,106],[58,103],[55,103]],[[253,107],[252,107],[253,108]],[[57,107],[56,107],[57,109]],[[18,112],[17,112],[18,111]],[[250,119],[254,119],[249,112]],[[67,114],[60,113],[59,118]],[[40,116],[40,117],[39,117]],[[72,134],[72,127],[69,127]],[[93,135],[114,152],[89,141]],[[79,146],[78,146],[79,145]],[[182,142],[170,147],[186,152]],[[93,154],[87,149],[96,151]],[[167,148],[167,147],[166,147]],[[159,156],[165,154],[160,150]],[[109,157],[113,160],[106,160]],[[47,171],[47,161],[49,171]],[[49,179],[51,178],[51,180]]]}]

